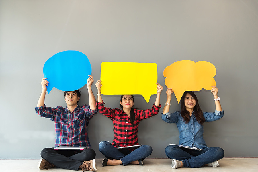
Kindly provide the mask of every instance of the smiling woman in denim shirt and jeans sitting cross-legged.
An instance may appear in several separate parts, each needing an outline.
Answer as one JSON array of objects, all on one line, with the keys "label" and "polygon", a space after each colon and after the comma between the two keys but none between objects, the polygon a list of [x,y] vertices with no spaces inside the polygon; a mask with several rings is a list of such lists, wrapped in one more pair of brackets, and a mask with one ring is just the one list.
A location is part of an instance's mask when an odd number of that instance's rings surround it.
[{"label": "smiling woman in denim shirt and jeans sitting cross-legged", "polygon": [[202,112],[196,95],[191,91],[185,91],[181,98],[181,111],[169,113],[171,94],[173,90],[167,89],[167,102],[164,106],[162,119],[167,123],[176,123],[179,130],[179,145],[197,147],[201,151],[182,148],[177,145],[169,145],[165,148],[168,158],[172,159],[172,168],[201,167],[208,165],[218,167],[218,159],[224,156],[223,149],[219,147],[207,147],[203,139],[203,123],[219,120],[223,117],[218,97],[218,88],[212,86],[216,110],[215,113]]}]

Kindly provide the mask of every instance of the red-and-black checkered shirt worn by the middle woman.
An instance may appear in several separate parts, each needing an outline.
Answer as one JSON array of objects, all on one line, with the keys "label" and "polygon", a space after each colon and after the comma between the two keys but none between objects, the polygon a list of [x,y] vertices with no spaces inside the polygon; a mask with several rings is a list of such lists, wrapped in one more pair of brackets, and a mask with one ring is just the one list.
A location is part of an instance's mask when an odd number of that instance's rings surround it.
[{"label": "red-and-black checkered shirt worn by the middle woman", "polygon": [[114,140],[112,145],[115,147],[124,147],[138,145],[138,126],[139,122],[143,119],[150,118],[157,115],[161,106],[153,104],[151,109],[137,110],[134,109],[135,121],[131,124],[131,118],[122,109],[111,109],[104,107],[104,102],[100,103],[97,101],[97,107],[100,113],[112,119]]}]

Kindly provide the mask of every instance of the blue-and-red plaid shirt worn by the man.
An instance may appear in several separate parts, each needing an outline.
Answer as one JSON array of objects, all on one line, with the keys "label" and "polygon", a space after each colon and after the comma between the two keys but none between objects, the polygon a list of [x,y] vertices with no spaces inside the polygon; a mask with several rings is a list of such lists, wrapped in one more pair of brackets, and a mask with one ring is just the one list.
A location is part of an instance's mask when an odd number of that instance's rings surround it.
[{"label": "blue-and-red plaid shirt worn by the man", "polygon": [[89,105],[79,106],[70,112],[66,108],[57,106],[56,108],[50,108],[44,106],[36,107],[36,113],[45,118],[50,118],[54,121],[56,130],[56,143],[58,146],[86,146],[91,147],[89,143],[89,137],[87,134],[87,126],[89,120],[94,114],[98,112],[98,109],[91,110]]}]

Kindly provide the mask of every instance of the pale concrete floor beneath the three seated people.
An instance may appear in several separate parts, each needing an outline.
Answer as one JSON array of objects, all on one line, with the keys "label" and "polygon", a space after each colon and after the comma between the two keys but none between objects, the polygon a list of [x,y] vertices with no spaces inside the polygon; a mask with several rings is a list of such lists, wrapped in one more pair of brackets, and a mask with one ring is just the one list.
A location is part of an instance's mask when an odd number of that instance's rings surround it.
[{"label": "pale concrete floor beneath the three seated people", "polygon": [[[0,171],[9,172],[37,172],[46,171],[37,169],[38,159],[19,159],[19,160],[0,160]],[[98,172],[159,172],[159,171],[195,171],[195,172],[210,172],[210,171],[220,171],[220,172],[257,172],[258,171],[258,158],[223,158],[219,160],[219,167],[200,167],[200,168],[171,168],[171,159],[145,159],[144,165],[119,165],[119,166],[105,166],[101,165],[102,159],[96,159],[97,171]],[[64,172],[70,171],[67,169],[56,169],[51,168],[46,172]]]}]

